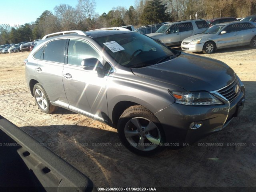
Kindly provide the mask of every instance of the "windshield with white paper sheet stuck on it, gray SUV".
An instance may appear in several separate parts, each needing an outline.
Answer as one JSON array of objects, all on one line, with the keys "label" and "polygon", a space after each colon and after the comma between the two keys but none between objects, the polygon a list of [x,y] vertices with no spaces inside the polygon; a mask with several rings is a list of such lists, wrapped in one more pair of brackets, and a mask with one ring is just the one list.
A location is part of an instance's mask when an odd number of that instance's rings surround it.
[{"label": "windshield with white paper sheet stuck on it, gray SUV", "polygon": [[140,33],[122,33],[94,39],[116,62],[128,68],[156,64],[174,53],[166,46]]}]

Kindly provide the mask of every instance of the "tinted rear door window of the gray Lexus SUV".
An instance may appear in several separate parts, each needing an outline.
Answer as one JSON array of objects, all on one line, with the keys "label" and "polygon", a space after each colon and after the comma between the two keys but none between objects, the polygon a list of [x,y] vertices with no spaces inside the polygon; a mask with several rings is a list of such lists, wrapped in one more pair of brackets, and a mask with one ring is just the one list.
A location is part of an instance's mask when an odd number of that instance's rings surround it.
[{"label": "tinted rear door window of the gray Lexus SUV", "polygon": [[64,63],[66,39],[49,42],[44,49],[43,60]]}]

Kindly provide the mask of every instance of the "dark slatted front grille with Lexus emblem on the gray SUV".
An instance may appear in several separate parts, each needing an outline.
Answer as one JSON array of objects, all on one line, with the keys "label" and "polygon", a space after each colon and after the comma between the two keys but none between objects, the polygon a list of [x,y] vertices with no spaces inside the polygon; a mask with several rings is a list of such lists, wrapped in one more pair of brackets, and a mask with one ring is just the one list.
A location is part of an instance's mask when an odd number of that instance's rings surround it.
[{"label": "dark slatted front grille with Lexus emblem on the gray SUV", "polygon": [[232,103],[241,92],[241,86],[236,78],[230,85],[218,90],[218,93],[224,96],[230,103]]}]

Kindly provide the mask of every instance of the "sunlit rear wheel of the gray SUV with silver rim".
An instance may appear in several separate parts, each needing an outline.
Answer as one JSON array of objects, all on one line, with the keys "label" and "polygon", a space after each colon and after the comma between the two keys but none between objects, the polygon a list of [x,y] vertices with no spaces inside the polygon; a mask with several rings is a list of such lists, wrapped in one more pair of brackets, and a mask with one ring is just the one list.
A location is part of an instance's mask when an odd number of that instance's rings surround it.
[{"label": "sunlit rear wheel of the gray SUV with silver rim", "polygon": [[55,112],[58,109],[58,106],[54,106],[50,103],[49,98],[40,83],[34,85],[33,88],[34,98],[36,100],[36,104],[40,108],[42,112],[46,114],[50,114]]}]

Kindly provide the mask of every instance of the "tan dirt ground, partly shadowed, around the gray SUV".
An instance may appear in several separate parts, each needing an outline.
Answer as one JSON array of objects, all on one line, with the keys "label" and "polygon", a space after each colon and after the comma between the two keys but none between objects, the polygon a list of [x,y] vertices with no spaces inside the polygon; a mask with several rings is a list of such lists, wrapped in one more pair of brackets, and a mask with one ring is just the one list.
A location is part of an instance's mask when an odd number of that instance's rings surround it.
[{"label": "tan dirt ground, partly shadowed, around the gray SUV", "polygon": [[200,54],[225,62],[238,74],[246,87],[244,109],[224,130],[150,158],[126,150],[116,130],[105,124],[63,108],[54,114],[41,112],[25,82],[23,60],[28,54],[0,54],[0,115],[44,143],[95,186],[156,187],[157,191],[173,186],[256,187],[256,49],[244,46]]}]

